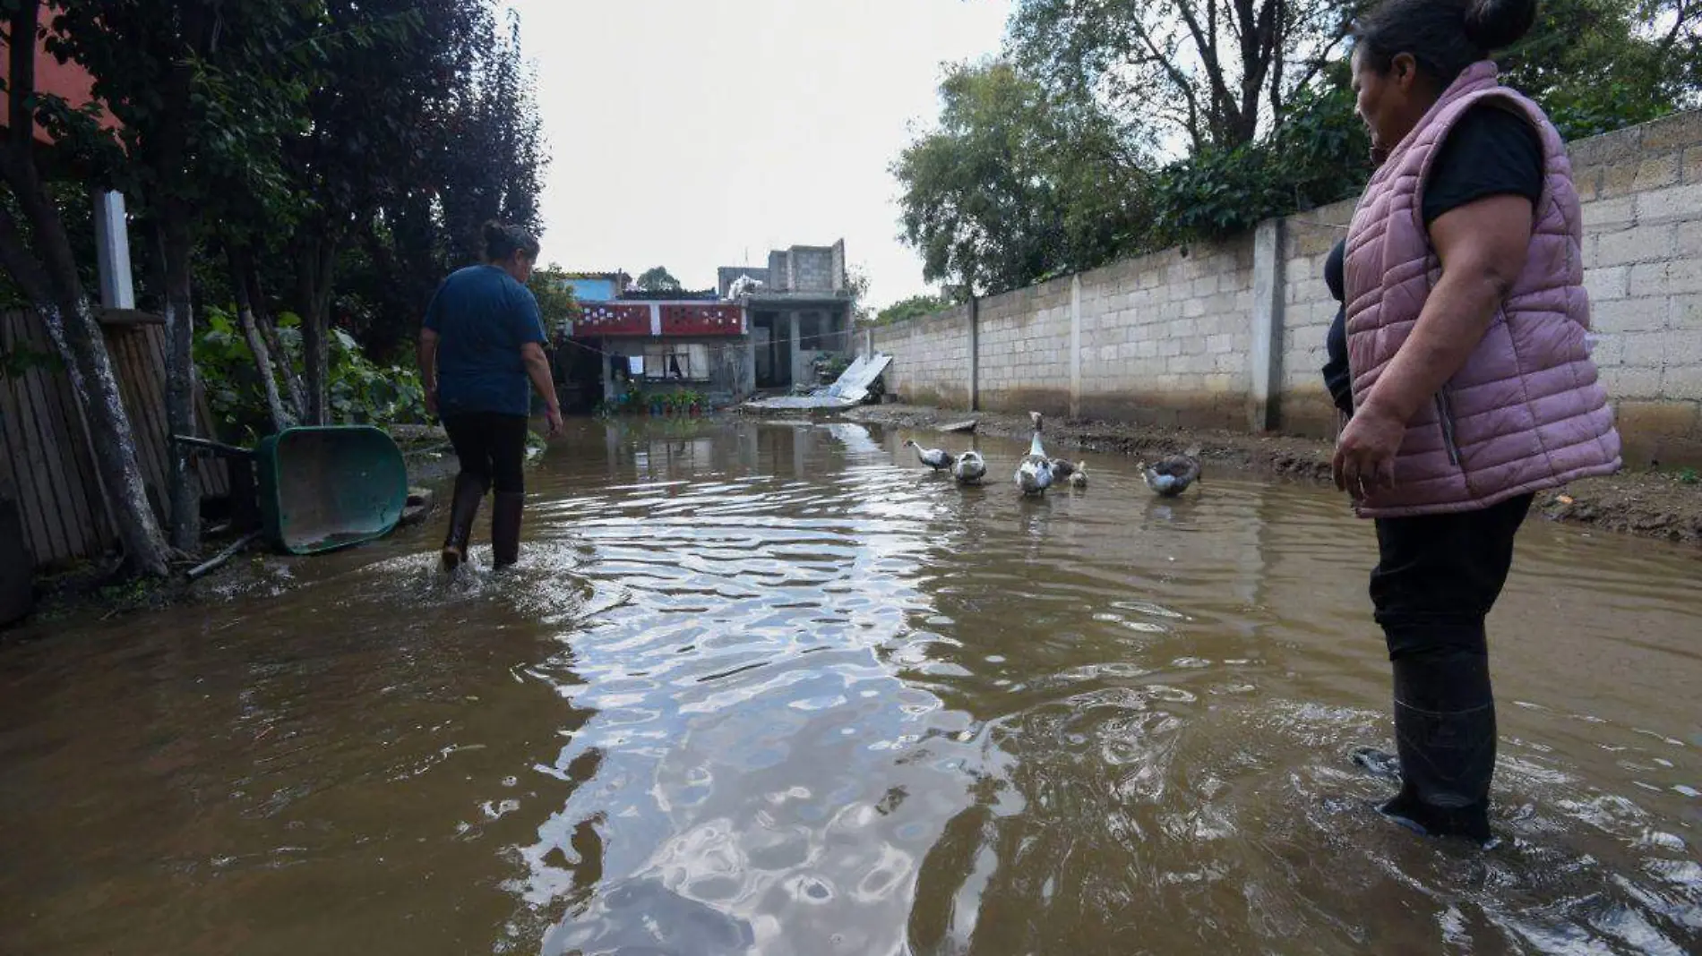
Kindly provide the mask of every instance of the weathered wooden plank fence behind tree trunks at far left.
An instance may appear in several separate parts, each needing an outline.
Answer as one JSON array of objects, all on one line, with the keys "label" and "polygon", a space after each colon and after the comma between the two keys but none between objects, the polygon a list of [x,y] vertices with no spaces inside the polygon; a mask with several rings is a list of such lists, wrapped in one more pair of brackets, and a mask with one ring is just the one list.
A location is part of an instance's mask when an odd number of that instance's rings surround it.
[{"label": "weathered wooden plank fence behind tree trunks at far left", "polygon": [[[141,475],[155,515],[170,507],[165,425],[165,323],[143,313],[107,313],[107,350],[136,432]],[[0,507],[10,502],[36,568],[104,555],[116,532],[90,454],[71,379],[32,311],[0,311]],[[213,435],[206,400],[196,395],[203,435]],[[225,464],[196,466],[203,497],[230,492]]]}]

